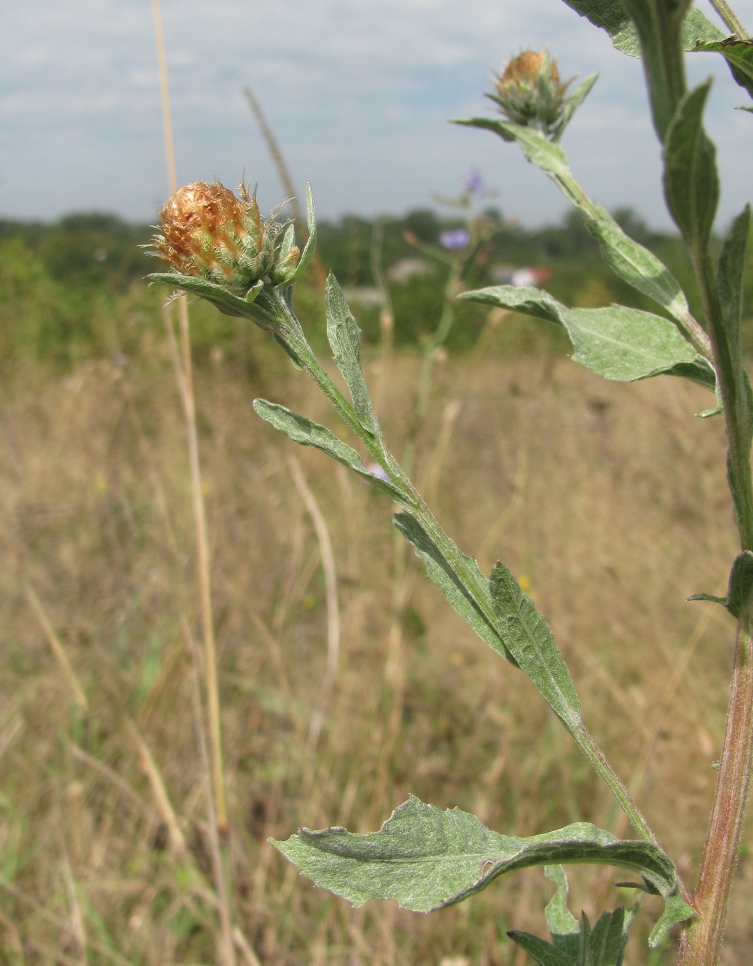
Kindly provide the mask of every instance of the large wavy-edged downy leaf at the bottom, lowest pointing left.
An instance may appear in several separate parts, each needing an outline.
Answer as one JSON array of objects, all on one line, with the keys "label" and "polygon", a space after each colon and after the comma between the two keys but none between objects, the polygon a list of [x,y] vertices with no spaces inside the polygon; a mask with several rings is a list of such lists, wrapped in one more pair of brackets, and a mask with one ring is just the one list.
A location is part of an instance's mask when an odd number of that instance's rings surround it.
[{"label": "large wavy-edged downy leaf at the bottom, lowest pointing left", "polygon": [[441,811],[415,796],[379,832],[300,829],[285,841],[270,840],[317,886],[355,906],[394,899],[404,909],[429,912],[475,895],[513,869],[564,863],[630,868],[665,899],[677,892],[675,867],[650,842],[615,838],[587,822],[530,838],[504,836],[475,815]]}]

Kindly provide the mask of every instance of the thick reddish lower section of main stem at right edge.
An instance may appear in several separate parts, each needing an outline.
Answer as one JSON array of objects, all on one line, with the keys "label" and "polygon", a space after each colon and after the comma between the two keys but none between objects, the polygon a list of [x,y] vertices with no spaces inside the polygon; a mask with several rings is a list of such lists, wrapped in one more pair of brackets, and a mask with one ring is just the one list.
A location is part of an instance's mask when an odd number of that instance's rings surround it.
[{"label": "thick reddish lower section of main stem at right edge", "polygon": [[694,904],[698,920],[682,935],[680,966],[719,961],[730,888],[753,768],[753,641],[750,613],[739,621],[724,746]]}]

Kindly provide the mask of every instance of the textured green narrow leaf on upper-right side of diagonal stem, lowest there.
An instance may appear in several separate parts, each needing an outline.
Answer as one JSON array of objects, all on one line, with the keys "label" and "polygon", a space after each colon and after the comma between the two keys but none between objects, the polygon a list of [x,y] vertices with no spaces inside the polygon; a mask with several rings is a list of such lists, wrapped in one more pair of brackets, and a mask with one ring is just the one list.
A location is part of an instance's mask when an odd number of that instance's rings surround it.
[{"label": "textured green narrow leaf on upper-right side of diagonal stem, lowest there", "polygon": [[492,568],[489,590],[507,649],[539,695],[572,731],[580,723],[580,703],[552,629],[504,563]]}]

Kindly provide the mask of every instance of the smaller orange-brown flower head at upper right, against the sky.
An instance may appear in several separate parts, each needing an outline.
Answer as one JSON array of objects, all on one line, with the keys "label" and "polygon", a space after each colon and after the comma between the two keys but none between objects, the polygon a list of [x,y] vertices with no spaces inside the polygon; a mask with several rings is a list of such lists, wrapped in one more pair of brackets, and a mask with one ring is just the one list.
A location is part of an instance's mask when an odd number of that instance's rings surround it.
[{"label": "smaller orange-brown flower head at upper right, against the sky", "polygon": [[524,50],[497,77],[491,95],[507,120],[551,135],[565,115],[569,81],[560,81],[557,63],[545,50]]}]

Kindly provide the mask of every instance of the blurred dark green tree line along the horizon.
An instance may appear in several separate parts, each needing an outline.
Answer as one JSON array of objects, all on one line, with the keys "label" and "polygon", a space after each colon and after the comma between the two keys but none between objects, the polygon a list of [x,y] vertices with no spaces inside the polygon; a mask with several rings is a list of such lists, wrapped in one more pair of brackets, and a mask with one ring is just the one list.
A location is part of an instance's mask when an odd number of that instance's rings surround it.
[{"label": "blurred dark green tree line along the horizon", "polygon": [[[681,241],[653,231],[630,209],[615,217],[676,274],[691,308],[700,313]],[[347,214],[337,221],[320,220],[321,267],[332,270],[355,299],[362,297],[362,303],[354,301],[354,312],[367,343],[380,335],[379,306],[366,298],[374,292],[375,262],[388,279],[397,345],[417,344],[436,326],[453,257],[463,260],[466,288],[495,284],[501,271],[536,267],[545,276],[543,286],[568,304],[618,301],[654,308],[603,265],[577,213],[568,213],[556,225],[526,228],[489,208],[474,219],[474,241],[467,252],[444,251],[442,233],[466,226],[465,213],[433,209],[399,217]],[[153,234],[148,225],[106,213],[74,213],[49,224],[0,218],[0,359],[28,356],[70,363],[87,355],[134,352],[139,333],[152,325],[154,310],[164,299],[164,291],[143,283],[146,274],[159,270],[159,262],[144,247]],[[403,275],[395,269],[401,263],[410,269]],[[303,315],[310,317],[312,338],[323,338],[315,273],[300,286],[299,298]],[[478,339],[485,314],[468,303],[457,311],[460,324],[448,345],[462,351]],[[199,351],[202,345],[237,343],[234,323],[218,319],[217,313],[205,318],[203,309],[198,314]]]}]

